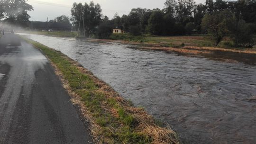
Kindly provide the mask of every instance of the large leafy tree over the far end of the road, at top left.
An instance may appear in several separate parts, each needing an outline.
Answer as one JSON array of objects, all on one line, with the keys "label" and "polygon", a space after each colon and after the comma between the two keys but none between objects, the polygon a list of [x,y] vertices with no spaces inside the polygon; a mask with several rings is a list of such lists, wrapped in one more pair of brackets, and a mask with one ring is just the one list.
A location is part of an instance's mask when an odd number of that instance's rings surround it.
[{"label": "large leafy tree over the far end of the road, at top left", "polygon": [[1,0],[0,1],[0,20],[5,22],[27,27],[30,16],[27,11],[33,10],[33,7],[27,4],[27,0]]}]

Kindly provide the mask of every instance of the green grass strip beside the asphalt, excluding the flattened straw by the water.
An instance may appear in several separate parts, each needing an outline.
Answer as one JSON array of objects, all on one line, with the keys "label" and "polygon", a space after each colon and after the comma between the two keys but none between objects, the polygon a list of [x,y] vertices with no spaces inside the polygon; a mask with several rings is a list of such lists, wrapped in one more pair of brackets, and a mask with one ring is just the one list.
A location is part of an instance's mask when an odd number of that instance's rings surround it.
[{"label": "green grass strip beside the asphalt, excluding the flattened straw by the water", "polygon": [[[62,53],[33,40],[24,39],[46,54],[63,73],[64,79],[68,81],[72,91],[82,97],[84,105],[100,126],[98,136],[101,143],[149,144],[152,142],[151,137],[137,132],[135,118],[119,104],[117,99],[108,99],[90,76],[82,73]],[[114,117],[109,111],[106,111],[105,107],[117,109],[118,117]]]}]

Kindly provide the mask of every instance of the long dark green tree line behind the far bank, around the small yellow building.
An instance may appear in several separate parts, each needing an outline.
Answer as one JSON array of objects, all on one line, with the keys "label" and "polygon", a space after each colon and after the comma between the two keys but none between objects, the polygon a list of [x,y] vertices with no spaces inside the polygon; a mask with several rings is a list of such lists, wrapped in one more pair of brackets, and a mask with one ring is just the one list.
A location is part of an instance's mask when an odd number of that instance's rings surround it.
[{"label": "long dark green tree line behind the far bank, around the small yellow building", "polygon": [[113,28],[121,28],[133,36],[209,34],[216,45],[231,35],[237,46],[253,45],[256,33],[256,0],[166,0],[164,9],[131,9],[128,15],[102,15],[101,6],[74,3],[71,9],[74,26],[84,36],[108,38]]}]

